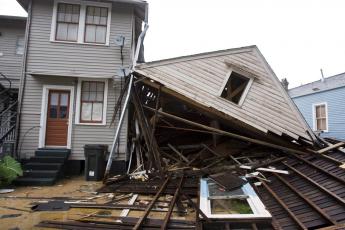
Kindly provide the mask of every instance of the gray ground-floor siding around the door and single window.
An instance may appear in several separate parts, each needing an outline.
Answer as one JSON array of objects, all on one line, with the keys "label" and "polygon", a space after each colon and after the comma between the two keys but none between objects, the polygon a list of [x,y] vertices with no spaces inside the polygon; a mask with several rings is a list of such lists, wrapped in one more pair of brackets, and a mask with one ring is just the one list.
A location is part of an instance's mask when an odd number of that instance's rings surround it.
[{"label": "gray ground-floor siding around the door and single window", "polygon": [[[74,86],[74,99],[77,93],[77,78],[71,77],[49,77],[49,76],[27,76],[26,88],[24,92],[19,150],[23,158],[34,155],[38,148],[39,130],[40,130],[40,111],[43,94],[43,85],[64,85]],[[115,134],[114,125],[110,126],[113,116],[114,106],[119,96],[119,82],[114,83],[109,80],[108,103],[107,103],[107,123],[105,126],[89,126],[75,124],[76,101],[74,101],[73,127],[72,127],[72,155],[70,159],[84,159],[85,144],[106,144],[109,150]],[[117,124],[117,120],[115,121]],[[119,155],[116,160],[126,160],[127,146],[127,118],[124,121],[120,133]]]}]

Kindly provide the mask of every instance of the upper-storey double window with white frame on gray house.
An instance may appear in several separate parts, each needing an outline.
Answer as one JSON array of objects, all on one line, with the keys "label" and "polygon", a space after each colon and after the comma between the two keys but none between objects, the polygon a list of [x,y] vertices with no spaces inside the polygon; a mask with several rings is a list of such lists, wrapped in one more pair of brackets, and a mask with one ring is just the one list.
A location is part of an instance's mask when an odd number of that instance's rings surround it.
[{"label": "upper-storey double window with white frame on gray house", "polygon": [[111,4],[55,0],[50,40],[109,45]]}]

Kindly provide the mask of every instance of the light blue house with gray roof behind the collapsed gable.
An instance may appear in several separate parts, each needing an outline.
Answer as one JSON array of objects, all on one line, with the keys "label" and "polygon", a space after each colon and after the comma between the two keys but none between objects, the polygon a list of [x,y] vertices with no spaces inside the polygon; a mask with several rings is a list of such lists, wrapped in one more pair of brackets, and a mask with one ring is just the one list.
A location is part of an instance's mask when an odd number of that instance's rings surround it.
[{"label": "light blue house with gray roof behind the collapsed gable", "polygon": [[345,73],[290,89],[289,94],[314,132],[345,140]]}]

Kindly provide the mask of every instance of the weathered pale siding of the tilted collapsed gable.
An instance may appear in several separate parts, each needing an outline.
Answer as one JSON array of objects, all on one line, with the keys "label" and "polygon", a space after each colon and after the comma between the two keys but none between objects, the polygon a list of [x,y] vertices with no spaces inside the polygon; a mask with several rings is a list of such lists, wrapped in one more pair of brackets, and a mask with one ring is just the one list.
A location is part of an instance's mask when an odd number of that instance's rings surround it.
[{"label": "weathered pale siding of the tilted collapsed gable", "polygon": [[[255,74],[242,106],[218,95],[229,73],[226,63]],[[298,111],[291,106],[293,103],[289,103],[289,98],[284,97],[280,83],[268,71],[255,49],[243,48],[147,63],[137,68],[137,72],[263,132],[310,139],[306,134],[306,124],[300,122]]]}]

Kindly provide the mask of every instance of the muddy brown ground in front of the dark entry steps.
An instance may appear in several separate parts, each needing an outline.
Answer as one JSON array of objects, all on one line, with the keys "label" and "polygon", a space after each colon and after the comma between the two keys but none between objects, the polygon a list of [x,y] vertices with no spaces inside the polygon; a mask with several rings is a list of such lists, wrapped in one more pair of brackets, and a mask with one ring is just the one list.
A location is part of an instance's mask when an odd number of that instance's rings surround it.
[{"label": "muddy brown ground in front of the dark entry steps", "polygon": [[[17,187],[14,192],[0,195],[1,229],[32,229],[42,220],[79,219],[95,210],[70,209],[68,211],[33,212],[35,202],[50,200],[83,201],[95,197],[94,192],[101,182],[85,181],[84,177],[74,177],[59,181],[54,186]],[[100,200],[99,198],[95,198]],[[84,200],[85,201],[85,200]],[[34,228],[43,229],[43,228]]]}]

